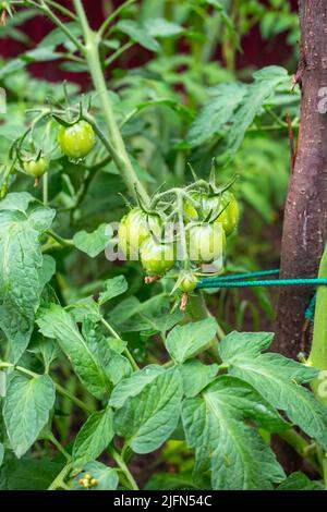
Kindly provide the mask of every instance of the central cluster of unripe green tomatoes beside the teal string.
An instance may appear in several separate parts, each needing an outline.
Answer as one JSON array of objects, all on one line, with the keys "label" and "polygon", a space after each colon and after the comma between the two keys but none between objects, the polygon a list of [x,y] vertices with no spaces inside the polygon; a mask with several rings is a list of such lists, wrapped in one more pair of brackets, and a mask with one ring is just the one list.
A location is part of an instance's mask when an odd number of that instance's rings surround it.
[{"label": "central cluster of unripe green tomatoes beside the teal string", "polygon": [[[177,204],[181,205],[180,196],[183,196],[182,214],[174,209]],[[174,197],[169,211],[156,198],[150,205],[155,209],[147,210],[143,205],[132,208],[121,220],[118,244],[128,259],[140,259],[149,277],[162,277],[175,267],[177,288],[182,293],[191,293],[198,284],[198,267],[222,259],[227,237],[239,224],[240,209],[234,195],[223,188],[195,188],[190,193],[174,190]],[[179,229],[171,236],[166,228],[174,212]],[[152,281],[150,278],[147,282]]]}]

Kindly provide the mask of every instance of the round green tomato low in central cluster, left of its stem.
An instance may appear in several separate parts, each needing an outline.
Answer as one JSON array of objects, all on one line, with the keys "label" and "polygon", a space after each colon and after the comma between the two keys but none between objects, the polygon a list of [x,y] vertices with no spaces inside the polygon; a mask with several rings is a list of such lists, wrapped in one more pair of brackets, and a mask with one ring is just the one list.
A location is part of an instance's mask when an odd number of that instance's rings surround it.
[{"label": "round green tomato low in central cluster, left of its stem", "polygon": [[175,263],[174,245],[160,244],[153,236],[143,242],[140,255],[143,269],[153,276],[164,276]]}]

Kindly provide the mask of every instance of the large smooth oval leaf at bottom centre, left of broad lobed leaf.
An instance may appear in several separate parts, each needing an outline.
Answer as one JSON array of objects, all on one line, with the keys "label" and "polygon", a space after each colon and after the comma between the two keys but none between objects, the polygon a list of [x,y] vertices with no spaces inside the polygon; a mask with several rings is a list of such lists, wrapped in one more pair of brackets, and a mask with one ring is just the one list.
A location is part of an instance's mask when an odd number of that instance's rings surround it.
[{"label": "large smooth oval leaf at bottom centre, left of broad lobed leaf", "polygon": [[160,373],[114,413],[117,434],[124,437],[136,453],[157,450],[178,425],[182,393],[178,371]]}]

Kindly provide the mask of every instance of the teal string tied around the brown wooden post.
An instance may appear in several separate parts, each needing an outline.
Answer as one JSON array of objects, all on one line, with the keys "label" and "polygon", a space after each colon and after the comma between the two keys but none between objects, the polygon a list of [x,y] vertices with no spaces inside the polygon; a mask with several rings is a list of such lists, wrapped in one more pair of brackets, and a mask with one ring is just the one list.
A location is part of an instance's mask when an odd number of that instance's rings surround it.
[{"label": "teal string tied around the brown wooden post", "polygon": [[[327,279],[323,278],[296,278],[296,279],[257,279],[268,276],[279,276],[280,270],[264,270],[258,272],[239,273],[234,276],[219,276],[202,279],[197,289],[210,288],[250,288],[250,287],[303,287],[327,285]],[[316,295],[314,295],[305,310],[305,318],[312,320],[314,317]]]}]

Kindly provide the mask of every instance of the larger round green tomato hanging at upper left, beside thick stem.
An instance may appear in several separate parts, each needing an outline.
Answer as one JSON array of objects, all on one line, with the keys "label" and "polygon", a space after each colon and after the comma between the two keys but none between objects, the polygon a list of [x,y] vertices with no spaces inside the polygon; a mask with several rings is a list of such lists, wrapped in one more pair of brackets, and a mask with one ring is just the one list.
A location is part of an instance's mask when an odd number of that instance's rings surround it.
[{"label": "larger round green tomato hanging at upper left, beside thick stem", "polygon": [[78,121],[72,126],[60,126],[58,142],[61,151],[69,158],[86,157],[95,145],[95,133],[89,123]]}]

